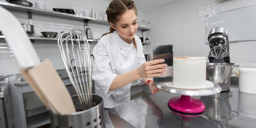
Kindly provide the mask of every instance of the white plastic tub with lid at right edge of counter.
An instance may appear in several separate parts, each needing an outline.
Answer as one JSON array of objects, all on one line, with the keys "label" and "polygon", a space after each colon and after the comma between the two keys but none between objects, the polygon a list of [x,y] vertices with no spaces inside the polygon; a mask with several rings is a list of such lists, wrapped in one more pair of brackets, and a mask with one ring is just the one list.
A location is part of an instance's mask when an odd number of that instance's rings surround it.
[{"label": "white plastic tub with lid at right edge of counter", "polygon": [[239,68],[239,91],[256,94],[256,68]]}]

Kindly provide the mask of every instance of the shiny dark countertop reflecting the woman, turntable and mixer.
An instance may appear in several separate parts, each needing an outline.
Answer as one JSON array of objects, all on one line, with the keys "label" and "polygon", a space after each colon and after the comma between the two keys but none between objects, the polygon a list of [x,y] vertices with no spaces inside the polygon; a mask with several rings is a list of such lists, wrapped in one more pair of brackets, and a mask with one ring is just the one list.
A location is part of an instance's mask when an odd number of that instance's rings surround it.
[{"label": "shiny dark countertop reflecting the woman, turntable and mixer", "polygon": [[180,96],[160,91],[140,96],[105,110],[106,128],[256,128],[256,94],[229,92],[212,96],[192,96],[206,106],[204,115],[184,118],[169,110],[169,99]]}]

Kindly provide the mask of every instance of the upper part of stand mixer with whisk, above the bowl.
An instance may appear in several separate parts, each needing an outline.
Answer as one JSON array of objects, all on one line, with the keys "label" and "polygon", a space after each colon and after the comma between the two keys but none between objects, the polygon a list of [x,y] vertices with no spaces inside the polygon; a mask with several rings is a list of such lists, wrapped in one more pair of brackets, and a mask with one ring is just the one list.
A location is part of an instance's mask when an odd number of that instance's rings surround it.
[{"label": "upper part of stand mixer with whisk, above the bowl", "polygon": [[223,27],[213,28],[209,32],[208,42],[210,46],[209,61],[229,63],[229,43],[227,29]]}]

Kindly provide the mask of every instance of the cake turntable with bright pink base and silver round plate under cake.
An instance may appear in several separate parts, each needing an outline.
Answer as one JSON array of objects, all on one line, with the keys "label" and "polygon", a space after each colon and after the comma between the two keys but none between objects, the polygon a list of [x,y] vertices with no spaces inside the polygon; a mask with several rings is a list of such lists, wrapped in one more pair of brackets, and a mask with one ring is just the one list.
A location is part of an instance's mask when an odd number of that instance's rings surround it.
[{"label": "cake turntable with bright pink base and silver round plate under cake", "polygon": [[177,86],[172,84],[157,84],[157,87],[163,91],[181,95],[180,97],[170,99],[168,107],[173,113],[182,116],[184,121],[189,121],[191,117],[203,115],[206,109],[203,102],[191,96],[209,96],[221,92],[221,87],[218,84],[207,80],[205,83],[204,87],[197,89],[177,88]]}]

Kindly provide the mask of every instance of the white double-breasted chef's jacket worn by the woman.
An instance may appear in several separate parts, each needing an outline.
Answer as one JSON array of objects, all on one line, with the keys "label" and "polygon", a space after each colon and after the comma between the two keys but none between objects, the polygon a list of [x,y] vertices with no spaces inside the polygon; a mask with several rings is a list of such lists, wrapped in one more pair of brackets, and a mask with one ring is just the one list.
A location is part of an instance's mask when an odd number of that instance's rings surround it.
[{"label": "white double-breasted chef's jacket worn by the woman", "polygon": [[[145,62],[140,38],[135,35],[134,44],[128,44],[112,32],[103,36],[93,49],[93,73],[95,93],[102,96],[104,108],[113,108],[130,101],[131,83],[115,90],[109,90],[117,75],[128,73]],[[141,79],[137,80],[140,83]]]}]

